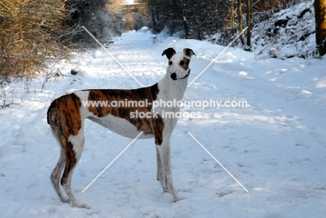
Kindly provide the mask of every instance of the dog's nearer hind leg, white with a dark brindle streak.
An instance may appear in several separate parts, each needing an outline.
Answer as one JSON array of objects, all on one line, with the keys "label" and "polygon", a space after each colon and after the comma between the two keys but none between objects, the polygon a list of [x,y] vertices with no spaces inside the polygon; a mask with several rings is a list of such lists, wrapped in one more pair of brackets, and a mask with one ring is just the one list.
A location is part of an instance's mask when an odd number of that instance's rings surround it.
[{"label": "dog's nearer hind leg, white with a dark brindle streak", "polygon": [[61,185],[63,186],[63,189],[65,189],[65,192],[67,193],[68,198],[70,198],[70,201],[74,207],[89,209],[88,205],[78,203],[74,194],[72,194],[71,189],[72,175],[79,162],[83,149],[84,131],[81,128],[81,130],[79,130],[79,134],[76,136],[70,136],[67,140],[67,146],[65,147],[65,171],[63,171]]}]

